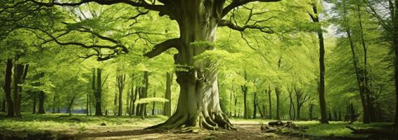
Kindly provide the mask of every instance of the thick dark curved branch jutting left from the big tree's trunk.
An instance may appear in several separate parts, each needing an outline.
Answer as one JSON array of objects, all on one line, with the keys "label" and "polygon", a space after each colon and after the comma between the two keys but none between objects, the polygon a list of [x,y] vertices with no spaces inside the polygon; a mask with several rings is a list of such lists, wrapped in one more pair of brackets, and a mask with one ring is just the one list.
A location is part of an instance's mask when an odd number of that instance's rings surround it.
[{"label": "thick dark curved branch jutting left from the big tree's trunk", "polygon": [[179,41],[179,38],[172,38],[162,43],[159,43],[158,45],[155,45],[152,50],[146,52],[143,56],[152,58],[162,54],[162,52],[165,52],[169,48],[176,48],[177,50],[179,50],[180,46],[181,43]]}]

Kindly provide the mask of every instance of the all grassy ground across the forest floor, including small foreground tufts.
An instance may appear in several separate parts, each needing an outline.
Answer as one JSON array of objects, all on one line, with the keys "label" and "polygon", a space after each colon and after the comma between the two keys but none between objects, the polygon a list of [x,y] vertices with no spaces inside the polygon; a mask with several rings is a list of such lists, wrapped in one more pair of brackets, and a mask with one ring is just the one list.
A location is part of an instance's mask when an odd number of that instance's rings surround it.
[{"label": "all grassy ground across the forest floor, including small foreground tufts", "polygon": [[[90,137],[92,134],[124,134],[124,133],[142,133],[139,130],[143,130],[145,127],[162,123],[167,120],[165,116],[149,116],[145,120],[136,117],[115,117],[115,116],[85,116],[85,114],[74,114],[71,117],[60,117],[67,116],[68,114],[63,113],[47,113],[47,114],[31,114],[23,113],[23,119],[15,118],[4,118],[4,113],[0,114],[0,139],[6,137],[8,139],[27,139],[36,137],[37,139],[53,139],[54,135],[57,134],[56,138],[62,138],[63,136],[83,136]],[[262,133],[259,130],[259,125],[264,123],[267,124],[269,121],[274,120],[261,120],[261,119],[250,119],[243,120],[240,118],[232,119],[231,122],[240,126],[246,132]],[[105,124],[102,126],[101,124]],[[366,138],[366,135],[352,134],[351,130],[345,126],[351,126],[357,129],[374,128],[374,129],[389,129],[391,123],[372,123],[372,124],[361,124],[353,123],[347,124],[345,122],[330,122],[328,125],[320,124],[317,121],[295,121],[296,125],[307,126],[309,129],[304,132],[300,132],[302,136],[309,136],[313,138],[325,138],[325,137],[344,137],[344,138]],[[239,131],[239,130],[238,130]],[[213,132],[210,132],[213,133]],[[225,132],[224,132],[225,133]],[[281,131],[281,133],[288,134],[287,131]],[[234,133],[231,133],[234,134]],[[226,132],[226,136],[231,135]],[[49,136],[45,138],[43,136]],[[127,134],[124,134],[127,135]],[[168,134],[174,136],[175,134]],[[219,135],[223,135],[219,133]],[[110,136],[112,136],[110,134]],[[184,135],[188,137],[188,135]],[[195,138],[195,136],[189,136]],[[249,136],[250,137],[250,136]],[[264,134],[259,138],[264,137]],[[181,139],[181,137],[176,137]],[[203,137],[196,137],[203,139]]]}]

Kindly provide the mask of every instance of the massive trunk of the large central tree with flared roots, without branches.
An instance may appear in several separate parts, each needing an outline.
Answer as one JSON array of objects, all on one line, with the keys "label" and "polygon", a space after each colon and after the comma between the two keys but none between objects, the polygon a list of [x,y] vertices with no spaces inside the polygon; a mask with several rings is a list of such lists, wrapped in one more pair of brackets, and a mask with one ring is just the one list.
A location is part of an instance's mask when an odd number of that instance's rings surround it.
[{"label": "massive trunk of the large central tree with flared roots, without branches", "polygon": [[[181,14],[175,17],[179,23],[179,53],[174,61],[181,69],[176,71],[180,85],[176,113],[165,123],[155,127],[176,128],[182,125],[183,132],[197,132],[201,127],[210,130],[218,126],[232,127],[219,104],[217,68],[210,62],[195,62],[193,57],[213,50],[214,46],[195,41],[214,42],[217,25],[222,11],[220,1],[181,1]],[[210,60],[209,60],[210,61]],[[182,67],[184,66],[184,67]],[[153,127],[152,127],[153,128]]]}]

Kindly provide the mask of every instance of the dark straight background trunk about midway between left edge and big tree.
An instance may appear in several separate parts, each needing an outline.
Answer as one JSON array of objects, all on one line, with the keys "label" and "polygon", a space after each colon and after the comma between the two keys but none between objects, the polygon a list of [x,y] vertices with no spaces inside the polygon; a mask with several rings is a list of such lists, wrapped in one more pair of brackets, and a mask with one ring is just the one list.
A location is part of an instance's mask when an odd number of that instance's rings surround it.
[{"label": "dark straight background trunk about midway between left edge and big tree", "polygon": [[[93,71],[93,82],[95,80],[95,69]],[[102,80],[101,80],[101,69],[97,68],[97,81],[96,81],[96,85],[97,88],[96,90],[94,90],[94,96],[96,98],[96,114],[95,116],[103,116],[102,114],[102,109],[101,109],[101,92],[102,92]],[[95,86],[95,82],[94,82],[94,86]]]}]

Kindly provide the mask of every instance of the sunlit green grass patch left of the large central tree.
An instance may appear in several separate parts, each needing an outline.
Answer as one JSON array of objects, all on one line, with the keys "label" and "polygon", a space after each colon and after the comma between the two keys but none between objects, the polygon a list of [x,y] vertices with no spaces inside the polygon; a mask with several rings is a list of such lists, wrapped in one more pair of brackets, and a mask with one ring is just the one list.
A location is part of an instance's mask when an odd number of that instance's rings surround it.
[{"label": "sunlit green grass patch left of the large central tree", "polygon": [[[31,114],[23,113],[23,119],[0,118],[0,128],[13,131],[85,131],[96,130],[103,127],[148,127],[161,123],[167,119],[165,116],[148,116],[145,120],[139,117],[115,117],[115,116],[85,116],[84,114],[73,114],[71,117],[64,113]],[[101,126],[105,123],[106,126]]]}]

